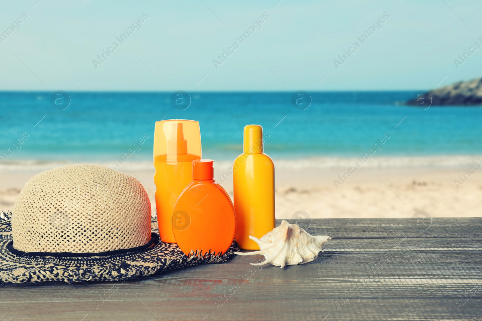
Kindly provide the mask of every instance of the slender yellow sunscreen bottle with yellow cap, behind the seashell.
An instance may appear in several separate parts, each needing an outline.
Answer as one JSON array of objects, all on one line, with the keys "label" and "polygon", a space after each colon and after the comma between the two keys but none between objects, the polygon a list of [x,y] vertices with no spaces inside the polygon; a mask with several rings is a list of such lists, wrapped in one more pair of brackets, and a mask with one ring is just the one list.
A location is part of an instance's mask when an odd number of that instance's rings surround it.
[{"label": "slender yellow sunscreen bottle with yellow cap, behind the seashell", "polygon": [[274,215],[274,164],[263,153],[263,128],[244,127],[244,153],[233,164],[235,239],[241,249],[259,250],[258,239],[272,231]]}]

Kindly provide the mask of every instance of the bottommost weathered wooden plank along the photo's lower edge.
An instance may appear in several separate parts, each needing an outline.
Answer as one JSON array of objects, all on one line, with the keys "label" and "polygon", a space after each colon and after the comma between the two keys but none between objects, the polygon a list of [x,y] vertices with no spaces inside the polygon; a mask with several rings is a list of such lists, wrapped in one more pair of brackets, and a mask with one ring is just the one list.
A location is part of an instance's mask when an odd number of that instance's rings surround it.
[{"label": "bottommost weathered wooden plank along the photo's lower edge", "polygon": [[[459,309],[444,299],[352,299],[349,305],[337,307],[335,300],[314,298],[269,299],[252,293],[251,300],[226,301],[216,307],[204,301],[143,300],[136,297],[112,301],[95,310],[83,302],[69,305],[16,303],[3,310],[3,320],[480,320],[482,299],[469,300]],[[217,309],[216,309],[217,308]],[[15,318],[12,318],[15,312]]]}]

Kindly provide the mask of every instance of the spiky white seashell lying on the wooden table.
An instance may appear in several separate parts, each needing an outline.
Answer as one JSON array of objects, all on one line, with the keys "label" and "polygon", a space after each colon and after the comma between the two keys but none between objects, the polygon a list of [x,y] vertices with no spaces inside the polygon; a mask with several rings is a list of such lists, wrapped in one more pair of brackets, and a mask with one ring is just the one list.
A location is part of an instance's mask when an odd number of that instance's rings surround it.
[{"label": "spiky white seashell lying on the wooden table", "polygon": [[251,265],[272,264],[281,266],[305,264],[318,257],[323,252],[323,244],[331,239],[329,236],[312,236],[301,229],[298,224],[290,224],[285,220],[273,231],[263,235],[260,239],[249,236],[259,245],[260,250],[248,253],[234,252],[238,255],[263,255],[265,260]]}]

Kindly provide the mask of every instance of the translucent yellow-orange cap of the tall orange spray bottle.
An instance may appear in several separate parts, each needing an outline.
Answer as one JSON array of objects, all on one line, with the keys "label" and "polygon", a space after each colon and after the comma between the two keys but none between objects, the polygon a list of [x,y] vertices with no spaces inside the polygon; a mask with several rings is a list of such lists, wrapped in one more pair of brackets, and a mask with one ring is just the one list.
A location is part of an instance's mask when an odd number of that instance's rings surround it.
[{"label": "translucent yellow-orange cap of the tall orange spray bottle", "polygon": [[187,162],[201,158],[199,122],[169,119],[156,122],[154,161]]}]

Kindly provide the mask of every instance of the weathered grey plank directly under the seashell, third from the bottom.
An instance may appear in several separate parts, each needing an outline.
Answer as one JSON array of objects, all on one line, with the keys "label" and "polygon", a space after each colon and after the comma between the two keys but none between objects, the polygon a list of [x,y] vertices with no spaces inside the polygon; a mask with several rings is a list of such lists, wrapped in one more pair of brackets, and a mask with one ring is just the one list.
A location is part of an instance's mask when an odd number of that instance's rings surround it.
[{"label": "weathered grey plank directly under the seashell, third from the bottom", "polygon": [[[340,241],[341,240],[335,240]],[[357,240],[350,240],[356,242]],[[152,278],[170,278],[174,275],[191,276],[192,278],[209,277],[212,279],[232,278],[245,274],[255,267],[249,263],[263,260],[261,256],[236,256],[228,263],[217,265],[201,265],[171,273],[164,273]],[[377,270],[380,277],[415,277],[423,274],[442,278],[478,278],[482,275],[482,251],[469,250],[454,253],[447,250],[426,251],[332,251],[320,253],[318,258],[300,266],[286,266],[280,269],[275,266],[264,266],[263,273],[285,279],[320,279],[320,278],[360,278],[370,269]],[[259,268],[258,268],[259,269]],[[386,276],[386,273],[388,276]],[[3,284],[2,288],[47,287],[52,283],[40,284]],[[63,284],[63,283],[60,283]],[[96,283],[90,283],[96,284]],[[99,283],[109,284],[109,283]],[[67,284],[66,284],[67,285]],[[77,285],[82,286],[82,285]]]}]

